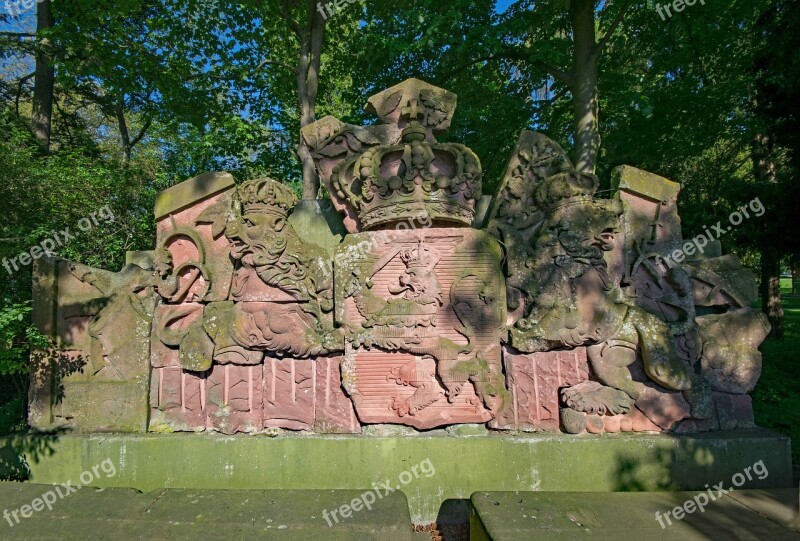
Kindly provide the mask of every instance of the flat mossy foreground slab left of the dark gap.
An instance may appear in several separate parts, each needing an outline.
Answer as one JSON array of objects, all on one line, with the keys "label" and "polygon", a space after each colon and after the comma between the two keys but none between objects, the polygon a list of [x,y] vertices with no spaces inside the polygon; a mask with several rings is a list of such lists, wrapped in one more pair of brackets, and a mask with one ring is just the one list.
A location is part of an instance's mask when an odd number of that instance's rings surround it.
[{"label": "flat mossy foreground slab left of the dark gap", "polygon": [[[13,513],[52,486],[0,483],[0,501]],[[352,512],[332,513],[363,490],[180,490],[81,488],[28,518],[0,523],[2,539],[374,539],[410,541],[411,520],[401,492]],[[326,520],[325,516],[328,516]],[[19,520],[16,520],[16,519]],[[330,525],[329,525],[330,524]]]}]

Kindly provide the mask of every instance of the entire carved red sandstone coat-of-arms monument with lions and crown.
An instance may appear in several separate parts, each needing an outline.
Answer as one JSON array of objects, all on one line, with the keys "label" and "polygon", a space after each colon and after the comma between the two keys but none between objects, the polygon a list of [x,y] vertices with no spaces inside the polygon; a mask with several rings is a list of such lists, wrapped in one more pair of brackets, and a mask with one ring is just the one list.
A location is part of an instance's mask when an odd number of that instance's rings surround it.
[{"label": "entire carved red sandstone coat-of-arms monument with lions and crown", "polygon": [[[753,426],[769,330],[735,256],[682,265],[679,185],[615,193],[524,132],[499,192],[440,143],[451,92],[416,79],[378,119],[303,130],[330,203],[200,175],[158,196],[119,272],[35,271],[30,423],[78,432],[698,432]],[[327,209],[327,210],[326,210]]]}]

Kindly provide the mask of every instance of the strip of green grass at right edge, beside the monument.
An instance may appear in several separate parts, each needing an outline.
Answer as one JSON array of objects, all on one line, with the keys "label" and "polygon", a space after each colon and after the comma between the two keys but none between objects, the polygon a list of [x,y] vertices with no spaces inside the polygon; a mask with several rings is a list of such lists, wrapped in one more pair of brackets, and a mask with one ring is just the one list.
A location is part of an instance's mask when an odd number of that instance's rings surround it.
[{"label": "strip of green grass at right edge, beside the monument", "polygon": [[792,438],[792,460],[800,464],[800,298],[791,293],[789,279],[781,280],[784,293],[784,338],[761,346],[764,369],[753,391],[756,424]]}]

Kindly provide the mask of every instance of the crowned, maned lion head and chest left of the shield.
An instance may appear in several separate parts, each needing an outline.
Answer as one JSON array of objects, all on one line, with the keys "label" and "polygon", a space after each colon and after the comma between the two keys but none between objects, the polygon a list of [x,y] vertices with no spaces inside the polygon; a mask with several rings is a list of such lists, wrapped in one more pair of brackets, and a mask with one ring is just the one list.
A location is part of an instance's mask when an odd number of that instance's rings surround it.
[{"label": "crowned, maned lion head and chest left of the shield", "polygon": [[[225,227],[231,256],[241,262],[231,291],[237,302],[232,338],[281,356],[325,355],[344,346],[330,316],[332,264],[325,250],[301,240],[287,224],[295,201],[287,187],[268,178],[237,189],[234,218]],[[248,306],[251,301],[286,304]]]}]

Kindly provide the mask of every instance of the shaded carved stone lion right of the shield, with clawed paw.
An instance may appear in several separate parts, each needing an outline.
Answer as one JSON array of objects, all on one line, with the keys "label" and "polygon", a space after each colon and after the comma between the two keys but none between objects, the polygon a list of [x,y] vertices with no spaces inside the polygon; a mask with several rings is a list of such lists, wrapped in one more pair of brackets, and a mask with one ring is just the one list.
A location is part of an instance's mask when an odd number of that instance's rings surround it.
[{"label": "shaded carved stone lion right of the shield, with clawed paw", "polygon": [[[538,219],[531,218],[535,233],[526,240],[525,224],[514,225],[518,218],[511,217],[506,225],[495,218],[495,233],[513,241],[504,242],[512,284],[509,305],[518,309],[510,328],[511,345],[528,353],[588,347],[598,382],[578,383],[562,394],[568,407],[589,415],[590,432],[605,430],[606,425],[613,431],[623,429],[622,419],[617,424],[610,417],[631,411],[639,397],[640,384],[632,380],[628,368],[637,358],[650,380],[684,393],[694,416],[710,416],[708,382],[689,364],[694,334],[677,343],[673,338],[693,329],[688,276],[672,270],[661,276],[651,268],[658,254],[650,251],[671,247],[680,239],[677,185],[623,168],[617,171],[619,199],[596,199],[596,176],[575,171],[563,150],[546,137],[528,138],[530,142],[518,146],[512,157],[512,162],[520,162],[512,178],[516,184],[507,185],[510,191],[502,204],[498,202],[497,217],[502,218],[503,204],[513,208],[532,200],[539,211]],[[540,168],[524,167],[521,157],[541,164]],[[528,214],[535,216],[533,211]],[[621,214],[622,244],[617,244]],[[609,264],[606,253],[614,250]],[[640,268],[649,269],[643,275],[646,279],[634,277]],[[659,285],[662,282],[669,287]],[[605,417],[594,418],[598,415]],[[629,424],[632,427],[633,420],[625,421]]]}]

